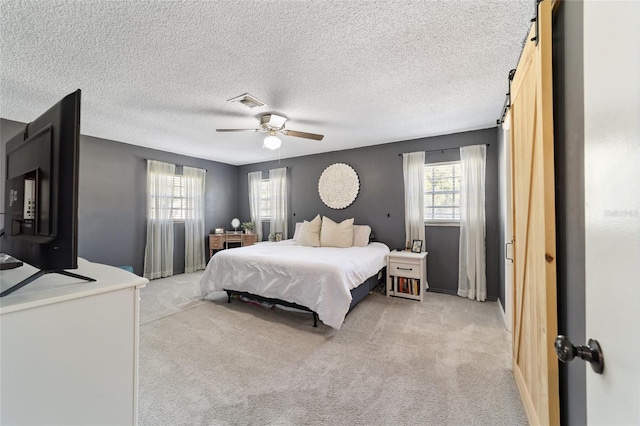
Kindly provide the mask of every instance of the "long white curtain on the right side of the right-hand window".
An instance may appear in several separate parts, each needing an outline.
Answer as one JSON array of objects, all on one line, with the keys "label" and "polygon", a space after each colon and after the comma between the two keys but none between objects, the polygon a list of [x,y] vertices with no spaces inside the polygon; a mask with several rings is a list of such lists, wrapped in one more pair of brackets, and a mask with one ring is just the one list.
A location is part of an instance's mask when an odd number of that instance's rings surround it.
[{"label": "long white curtain on the right side of the right-hand window", "polygon": [[460,263],[458,296],[487,298],[485,262],[485,145],[460,148]]}]

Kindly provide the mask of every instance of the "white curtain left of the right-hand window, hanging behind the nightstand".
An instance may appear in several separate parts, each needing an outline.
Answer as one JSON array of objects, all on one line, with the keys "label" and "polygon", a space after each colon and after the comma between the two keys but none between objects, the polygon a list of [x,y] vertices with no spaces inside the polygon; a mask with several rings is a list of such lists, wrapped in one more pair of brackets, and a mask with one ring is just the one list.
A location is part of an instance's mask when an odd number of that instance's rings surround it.
[{"label": "white curtain left of the right-hand window, hanging behind the nightstand", "polygon": [[404,224],[407,244],[422,240],[422,251],[426,251],[424,237],[424,151],[402,154],[404,175]]}]

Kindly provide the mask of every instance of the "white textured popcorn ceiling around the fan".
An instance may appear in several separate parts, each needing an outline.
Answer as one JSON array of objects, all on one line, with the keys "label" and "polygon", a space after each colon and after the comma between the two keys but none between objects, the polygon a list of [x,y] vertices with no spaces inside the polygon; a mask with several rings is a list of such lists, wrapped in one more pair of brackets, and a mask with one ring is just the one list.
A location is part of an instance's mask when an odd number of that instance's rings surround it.
[{"label": "white textured popcorn ceiling around the fan", "polygon": [[[492,127],[534,3],[2,0],[0,117],[80,88],[83,134],[235,165]],[[266,112],[325,138],[215,132]]]}]

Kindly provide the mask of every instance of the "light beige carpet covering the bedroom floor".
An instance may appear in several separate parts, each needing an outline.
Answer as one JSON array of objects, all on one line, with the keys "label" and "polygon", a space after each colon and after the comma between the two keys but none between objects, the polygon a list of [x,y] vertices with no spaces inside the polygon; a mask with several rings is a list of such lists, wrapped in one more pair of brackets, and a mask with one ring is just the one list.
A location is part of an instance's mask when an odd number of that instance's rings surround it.
[{"label": "light beige carpet covering the bedroom floor", "polygon": [[142,290],[140,425],[527,424],[495,302],[373,293],[336,331],[200,276]]}]

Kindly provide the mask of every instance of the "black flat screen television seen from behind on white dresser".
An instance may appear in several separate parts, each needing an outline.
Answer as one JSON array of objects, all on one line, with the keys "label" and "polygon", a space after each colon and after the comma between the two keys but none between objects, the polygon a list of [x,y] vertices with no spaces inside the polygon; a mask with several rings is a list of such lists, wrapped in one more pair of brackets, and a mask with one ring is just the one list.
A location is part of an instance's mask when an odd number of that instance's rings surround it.
[{"label": "black flat screen television seen from behind on white dresser", "polygon": [[6,296],[47,273],[83,280],[78,267],[80,90],[28,123],[6,144],[2,250],[39,269]]}]

